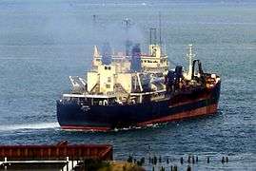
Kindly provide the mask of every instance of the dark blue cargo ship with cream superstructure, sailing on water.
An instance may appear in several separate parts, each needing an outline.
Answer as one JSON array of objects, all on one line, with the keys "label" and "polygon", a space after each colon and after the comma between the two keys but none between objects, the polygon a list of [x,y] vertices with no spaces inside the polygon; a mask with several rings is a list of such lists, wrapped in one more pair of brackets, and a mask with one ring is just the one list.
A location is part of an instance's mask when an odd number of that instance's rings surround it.
[{"label": "dark blue cargo ship with cream superstructure, sailing on water", "polygon": [[62,129],[108,131],[168,123],[217,112],[221,79],[203,71],[188,46],[187,69],[169,68],[167,54],[150,41],[148,53],[101,54],[94,47],[84,78],[69,76],[72,89],[57,101]]}]

